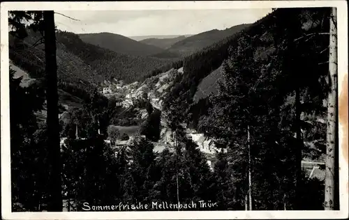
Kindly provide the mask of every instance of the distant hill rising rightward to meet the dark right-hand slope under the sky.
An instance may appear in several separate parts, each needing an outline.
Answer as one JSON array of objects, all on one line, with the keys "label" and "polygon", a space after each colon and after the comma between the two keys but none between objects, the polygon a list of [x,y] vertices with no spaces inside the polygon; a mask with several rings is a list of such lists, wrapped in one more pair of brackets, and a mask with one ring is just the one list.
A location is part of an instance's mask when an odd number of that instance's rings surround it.
[{"label": "distant hill rising rightward to meet the dark right-hand slope under the sky", "polygon": [[198,33],[174,43],[174,45],[172,45],[168,51],[177,52],[184,55],[192,54],[193,52],[197,52],[204,47],[214,44],[215,42],[232,36],[249,25],[250,24],[239,24],[225,30],[214,29],[211,31]]}]

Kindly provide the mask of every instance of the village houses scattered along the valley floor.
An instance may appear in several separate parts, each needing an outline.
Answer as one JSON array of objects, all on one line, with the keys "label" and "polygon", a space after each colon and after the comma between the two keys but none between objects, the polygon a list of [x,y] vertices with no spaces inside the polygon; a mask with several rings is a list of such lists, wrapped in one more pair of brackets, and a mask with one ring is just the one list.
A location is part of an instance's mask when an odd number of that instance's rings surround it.
[{"label": "village houses scattered along the valley floor", "polygon": [[[165,97],[167,91],[166,89],[172,86],[172,80],[176,76],[176,74],[182,74],[183,68],[179,68],[178,70],[172,68],[167,72],[163,72],[162,74],[158,74],[155,77],[151,77],[144,81],[143,83],[139,83],[135,81],[131,84],[124,84],[122,80],[117,81],[104,81],[103,87],[101,91],[99,91],[102,95],[107,98],[115,98],[117,100],[116,107],[123,108],[123,112],[130,111],[134,109],[138,111],[138,118],[145,119],[148,116],[146,109],[140,109],[137,107],[138,102],[140,101],[149,101],[151,106],[154,109],[162,110],[163,97]],[[61,114],[61,117],[64,117],[64,113]],[[174,151],[174,137],[171,129],[168,127],[167,119],[165,117],[165,113],[161,113],[161,134],[160,139],[157,142],[153,142],[154,144],[154,152],[162,152],[165,148],[168,148],[170,151]],[[111,141],[110,139],[106,139],[105,143],[110,144],[110,147],[115,150],[115,155],[117,155],[118,149],[124,146],[130,146],[133,141],[139,137],[145,138],[144,135],[141,135],[139,129],[132,129],[131,132],[128,131],[127,127],[119,126],[119,125],[110,125],[115,126],[122,130],[126,129],[124,134],[127,134],[128,139],[124,139],[122,134],[119,136],[119,139],[116,141]],[[193,140],[194,143],[198,145],[198,149],[207,155],[207,164],[213,169],[214,162],[216,160],[216,152],[223,151],[226,152],[224,148],[216,148],[214,143],[214,139],[211,139],[205,134],[198,133],[195,129],[187,127],[186,123],[181,123],[181,126],[184,127],[186,136]],[[130,126],[135,127],[135,126]],[[98,130],[98,132],[100,132]],[[79,136],[80,132],[76,126],[75,136],[77,139],[83,139]],[[61,137],[61,145],[64,145],[64,141],[66,137]]]}]

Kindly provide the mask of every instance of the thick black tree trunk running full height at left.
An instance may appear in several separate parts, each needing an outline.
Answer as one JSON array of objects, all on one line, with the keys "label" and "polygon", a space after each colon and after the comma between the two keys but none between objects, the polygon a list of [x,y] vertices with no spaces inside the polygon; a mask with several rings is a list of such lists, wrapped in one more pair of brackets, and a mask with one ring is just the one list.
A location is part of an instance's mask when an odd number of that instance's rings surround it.
[{"label": "thick black tree trunk running full height at left", "polygon": [[54,11],[43,13],[45,24],[45,77],[47,100],[47,133],[51,162],[50,205],[48,211],[62,211],[61,195],[61,150],[59,146],[59,118],[57,93],[56,36],[54,30]]}]

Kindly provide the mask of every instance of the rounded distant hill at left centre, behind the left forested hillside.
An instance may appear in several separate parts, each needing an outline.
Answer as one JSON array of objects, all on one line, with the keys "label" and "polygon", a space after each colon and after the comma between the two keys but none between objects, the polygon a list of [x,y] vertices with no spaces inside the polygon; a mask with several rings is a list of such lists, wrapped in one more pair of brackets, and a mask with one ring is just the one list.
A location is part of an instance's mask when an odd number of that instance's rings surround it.
[{"label": "rounded distant hill at left centre, behind the left forested hillside", "polygon": [[[163,54],[161,58],[172,58],[170,52],[164,54],[164,50],[154,45],[148,45],[125,36],[115,33],[83,33],[79,37],[84,42],[105,49],[110,49],[120,54],[127,54],[131,56],[151,56],[153,54]],[[166,55],[168,54],[168,57]]]}]

